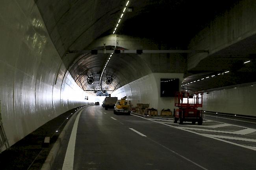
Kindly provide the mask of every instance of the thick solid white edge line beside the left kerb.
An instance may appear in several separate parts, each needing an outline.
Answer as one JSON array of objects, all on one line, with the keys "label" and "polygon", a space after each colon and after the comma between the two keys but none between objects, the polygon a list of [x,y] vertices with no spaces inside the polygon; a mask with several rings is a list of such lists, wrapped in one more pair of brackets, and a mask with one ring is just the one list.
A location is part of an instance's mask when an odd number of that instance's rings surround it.
[{"label": "thick solid white edge line beside the left kerb", "polygon": [[64,163],[62,166],[62,170],[72,170],[73,165],[74,165],[74,151],[75,151],[75,144],[76,144],[76,132],[77,132],[77,127],[78,127],[78,120],[80,118],[81,110],[75,120],[70,139],[69,139],[69,145],[67,147]]}]

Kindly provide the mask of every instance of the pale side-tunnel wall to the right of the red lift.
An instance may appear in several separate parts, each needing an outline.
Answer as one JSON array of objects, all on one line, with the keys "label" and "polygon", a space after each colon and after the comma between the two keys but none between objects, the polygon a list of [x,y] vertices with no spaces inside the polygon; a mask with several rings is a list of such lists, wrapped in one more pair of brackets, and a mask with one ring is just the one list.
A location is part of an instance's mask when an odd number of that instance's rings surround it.
[{"label": "pale side-tunnel wall to the right of the red lift", "polygon": [[255,94],[256,85],[204,93],[202,110],[256,116]]}]

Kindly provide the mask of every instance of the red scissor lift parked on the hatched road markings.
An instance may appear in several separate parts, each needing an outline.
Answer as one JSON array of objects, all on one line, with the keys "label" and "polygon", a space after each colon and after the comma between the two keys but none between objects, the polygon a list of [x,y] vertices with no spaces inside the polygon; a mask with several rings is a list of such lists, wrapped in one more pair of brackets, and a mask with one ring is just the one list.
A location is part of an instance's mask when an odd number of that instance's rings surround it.
[{"label": "red scissor lift parked on the hatched road markings", "polygon": [[196,122],[202,125],[203,113],[202,110],[197,110],[198,107],[202,107],[202,97],[202,93],[199,92],[176,92],[175,106],[179,109],[175,110],[173,122],[182,124],[184,121],[190,121],[193,125]]}]

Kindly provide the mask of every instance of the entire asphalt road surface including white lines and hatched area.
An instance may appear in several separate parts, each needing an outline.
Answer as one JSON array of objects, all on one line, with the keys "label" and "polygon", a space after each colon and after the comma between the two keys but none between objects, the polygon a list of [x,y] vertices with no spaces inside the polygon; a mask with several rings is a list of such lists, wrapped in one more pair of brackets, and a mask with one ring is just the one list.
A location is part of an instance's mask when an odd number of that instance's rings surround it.
[{"label": "entire asphalt road surface including white lines and hatched area", "polygon": [[206,116],[202,126],[179,125],[167,118],[115,115],[101,106],[74,116],[52,170],[256,169],[255,123],[243,127]]}]

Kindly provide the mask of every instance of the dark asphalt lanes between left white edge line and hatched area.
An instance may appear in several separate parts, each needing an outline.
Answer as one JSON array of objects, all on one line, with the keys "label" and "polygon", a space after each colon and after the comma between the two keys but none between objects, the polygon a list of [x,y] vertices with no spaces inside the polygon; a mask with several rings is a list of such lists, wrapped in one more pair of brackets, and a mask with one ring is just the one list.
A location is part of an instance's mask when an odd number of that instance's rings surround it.
[{"label": "dark asphalt lanes between left white edge line and hatched area", "polygon": [[74,169],[250,170],[255,158],[252,150],[92,106],[80,116]]}]

